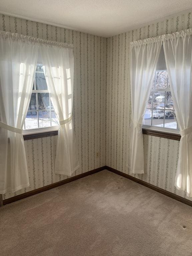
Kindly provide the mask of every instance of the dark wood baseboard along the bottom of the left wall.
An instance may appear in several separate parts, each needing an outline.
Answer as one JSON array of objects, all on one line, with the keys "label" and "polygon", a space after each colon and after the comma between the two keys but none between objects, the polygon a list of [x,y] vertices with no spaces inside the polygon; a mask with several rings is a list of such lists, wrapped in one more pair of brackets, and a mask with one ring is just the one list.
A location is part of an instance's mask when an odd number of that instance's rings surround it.
[{"label": "dark wood baseboard along the bottom of the left wall", "polygon": [[73,177],[71,177],[71,178],[68,178],[68,179],[65,179],[65,180],[61,180],[61,181],[52,183],[52,184],[47,185],[47,186],[44,186],[44,187],[42,187],[42,188],[37,188],[37,189],[35,189],[35,190],[32,190],[32,191],[23,193],[23,194],[21,194],[21,195],[17,195],[17,196],[10,197],[10,198],[8,198],[8,199],[3,200],[3,205],[13,203],[13,202],[15,202],[15,201],[21,200],[21,199],[26,198],[26,197],[29,197],[29,196],[36,195],[36,194],[38,194],[38,193],[44,192],[44,191],[49,190],[49,189],[52,189],[52,188],[56,188],[56,187],[58,187],[58,186],[64,185],[64,184],[69,183],[69,182],[72,182],[72,181],[74,181],[74,180],[78,180],[78,179],[81,179],[81,178],[86,177],[86,176],[88,176],[88,175],[94,174],[94,173],[96,173],[96,172],[100,172],[100,171],[102,171],[102,170],[104,170],[104,169],[105,169],[105,168],[104,168],[104,166],[103,166],[103,167],[100,167],[100,168],[97,168],[97,169],[94,169],[94,170],[91,170],[91,171],[88,171],[88,172],[85,172],[85,173],[82,173],[82,174],[73,176]]}]

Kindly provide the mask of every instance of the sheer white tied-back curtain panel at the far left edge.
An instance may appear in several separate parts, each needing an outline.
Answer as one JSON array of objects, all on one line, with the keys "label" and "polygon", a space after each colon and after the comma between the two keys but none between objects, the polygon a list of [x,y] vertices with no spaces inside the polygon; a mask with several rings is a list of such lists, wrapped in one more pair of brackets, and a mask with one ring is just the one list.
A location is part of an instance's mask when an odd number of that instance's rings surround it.
[{"label": "sheer white tied-back curtain panel at the far left edge", "polygon": [[0,31],[0,194],[29,186],[22,136],[30,102],[38,45]]}]

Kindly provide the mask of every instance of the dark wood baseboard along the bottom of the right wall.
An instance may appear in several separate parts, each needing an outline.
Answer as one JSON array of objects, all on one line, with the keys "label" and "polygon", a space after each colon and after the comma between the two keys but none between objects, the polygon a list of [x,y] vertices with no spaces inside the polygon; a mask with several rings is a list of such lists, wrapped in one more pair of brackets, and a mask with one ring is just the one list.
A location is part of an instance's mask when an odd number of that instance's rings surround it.
[{"label": "dark wood baseboard along the bottom of the right wall", "polygon": [[145,187],[148,187],[148,188],[150,188],[150,189],[153,189],[153,190],[155,190],[155,191],[157,191],[157,192],[159,192],[159,193],[161,193],[161,194],[163,194],[163,195],[166,195],[166,196],[168,196],[168,197],[171,197],[171,198],[173,198],[173,199],[175,199],[175,200],[177,200],[177,201],[180,201],[180,202],[182,202],[182,203],[184,203],[184,204],[187,204],[187,205],[189,205],[189,206],[192,207],[192,201],[190,201],[190,200],[187,199],[187,198],[178,196],[178,195],[176,195],[176,194],[174,194],[174,193],[172,193],[172,192],[169,192],[169,191],[167,191],[167,190],[165,190],[165,189],[162,189],[162,188],[159,188],[159,187],[157,187],[157,186],[154,186],[154,185],[152,185],[152,184],[150,184],[150,183],[148,183],[148,182],[146,182],[146,181],[137,179],[137,178],[135,178],[135,177],[133,177],[133,176],[131,176],[131,175],[129,175],[129,174],[120,172],[120,171],[118,171],[118,170],[116,170],[116,169],[113,169],[113,168],[111,168],[111,167],[109,167],[109,166],[104,166],[104,167],[105,167],[104,169],[106,169],[106,170],[108,170],[108,171],[114,172],[114,173],[116,173],[116,174],[118,174],[118,175],[120,175],[120,176],[122,176],[122,177],[125,177],[125,178],[127,178],[127,179],[130,179],[130,180],[132,180],[132,181],[134,181],[134,182],[137,182],[137,183],[139,183],[139,184],[141,184],[141,185],[143,185],[143,186],[145,186]]}]

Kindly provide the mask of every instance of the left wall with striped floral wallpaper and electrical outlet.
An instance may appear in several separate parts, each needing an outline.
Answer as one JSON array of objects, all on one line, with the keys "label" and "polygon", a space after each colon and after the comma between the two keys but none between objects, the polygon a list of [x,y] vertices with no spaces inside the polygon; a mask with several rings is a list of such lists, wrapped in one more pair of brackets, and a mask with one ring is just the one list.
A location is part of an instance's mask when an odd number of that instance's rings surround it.
[{"label": "left wall with striped floral wallpaper and electrical outlet", "polygon": [[[106,38],[6,15],[0,15],[0,30],[74,45],[73,123],[81,167],[73,176],[104,166]],[[30,187],[3,199],[67,178],[53,170],[56,137],[25,141]]]}]

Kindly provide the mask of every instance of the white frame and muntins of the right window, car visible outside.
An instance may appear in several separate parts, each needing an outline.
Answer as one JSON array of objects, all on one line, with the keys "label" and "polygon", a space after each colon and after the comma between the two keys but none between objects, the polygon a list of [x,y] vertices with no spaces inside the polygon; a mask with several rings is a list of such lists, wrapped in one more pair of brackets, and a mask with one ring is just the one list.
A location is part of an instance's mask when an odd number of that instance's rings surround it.
[{"label": "white frame and muntins of the right window, car visible outside", "polygon": [[[167,71],[166,69],[165,70],[156,70],[156,71]],[[169,79],[169,78],[168,78]],[[155,81],[156,81],[156,72],[155,72]],[[168,80],[167,80],[167,83],[168,83]],[[171,92],[171,89],[168,90],[168,87],[167,88],[164,88],[164,89],[160,89],[160,88],[157,88],[157,89],[151,89],[151,92],[160,92],[160,91],[164,91],[164,92],[168,92],[170,91]],[[150,92],[150,93],[151,93]],[[166,111],[166,100],[164,102],[164,108],[162,109],[164,111],[164,117],[163,117],[163,124],[165,124],[165,111]],[[148,109],[148,108],[146,108]],[[167,110],[168,111],[168,110]],[[151,119],[153,120],[153,98],[152,98],[152,112],[151,112]],[[155,125],[146,125],[146,124],[143,124],[142,126],[143,129],[148,129],[148,130],[152,130],[152,131],[159,131],[159,132],[166,132],[166,133],[174,133],[174,134],[180,134],[179,133],[179,128],[178,128],[178,124],[177,124],[177,129],[173,129],[173,128],[167,128],[167,127],[160,127],[160,126],[155,126]]]}]

